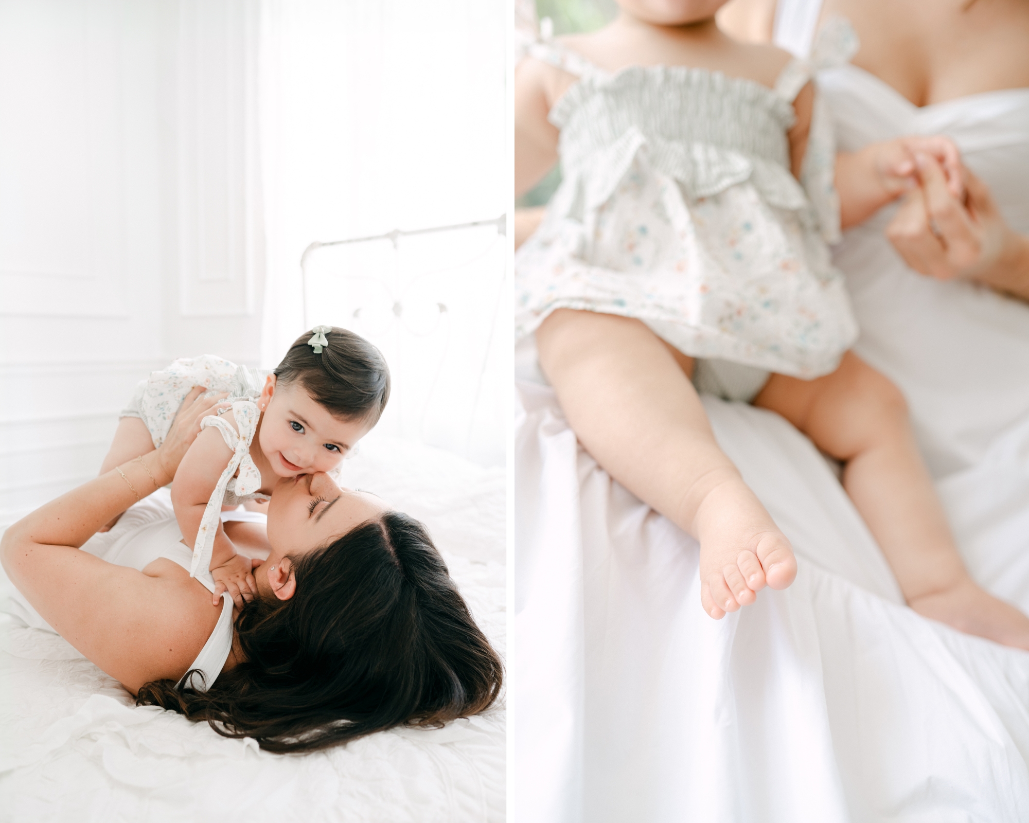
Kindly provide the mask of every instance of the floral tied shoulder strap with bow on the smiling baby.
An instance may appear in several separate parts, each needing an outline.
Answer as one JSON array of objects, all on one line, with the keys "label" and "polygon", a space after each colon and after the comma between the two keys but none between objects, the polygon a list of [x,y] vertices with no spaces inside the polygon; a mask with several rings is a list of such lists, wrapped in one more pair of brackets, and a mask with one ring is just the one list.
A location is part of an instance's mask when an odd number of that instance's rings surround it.
[{"label": "floral tied shoulder strap with bow on the smiling baby", "polygon": [[197,542],[193,544],[192,563],[189,567],[189,576],[197,577],[201,571],[208,571],[211,566],[211,554],[214,550],[214,536],[218,533],[220,523],[221,503],[225,498],[225,490],[233,480],[233,475],[237,470],[240,476],[236,478],[234,493],[237,497],[253,494],[260,489],[260,472],[257,466],[250,459],[250,442],[253,440],[254,431],[257,429],[257,421],[260,412],[257,404],[252,400],[236,400],[233,403],[233,417],[236,425],[240,427],[239,433],[232,427],[227,420],[216,415],[209,415],[201,421],[201,429],[214,426],[221,432],[225,445],[233,450],[233,456],[228,460],[228,465],[221,472],[211,498],[207,501],[207,508],[204,509],[204,516],[200,522],[200,529],[197,531]]}]

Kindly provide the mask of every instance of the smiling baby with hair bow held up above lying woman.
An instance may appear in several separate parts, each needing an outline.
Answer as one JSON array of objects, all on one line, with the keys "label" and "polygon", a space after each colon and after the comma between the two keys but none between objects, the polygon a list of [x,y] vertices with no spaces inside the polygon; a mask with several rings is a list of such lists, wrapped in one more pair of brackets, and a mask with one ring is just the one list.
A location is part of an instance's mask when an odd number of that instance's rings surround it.
[{"label": "smiling baby with hair bow held up above lying woman", "polygon": [[[172,482],[172,504],[183,542],[194,546],[191,574],[209,568],[214,604],[227,592],[242,607],[257,591],[252,562],[226,536],[222,508],[267,501],[282,477],[339,466],[379,422],[389,369],[376,347],[334,326],[303,334],[270,374],[210,355],[176,360],[137,387],[101,474],[159,446],[196,386],[226,401],[201,424]],[[316,500],[311,513],[332,502]]]}]

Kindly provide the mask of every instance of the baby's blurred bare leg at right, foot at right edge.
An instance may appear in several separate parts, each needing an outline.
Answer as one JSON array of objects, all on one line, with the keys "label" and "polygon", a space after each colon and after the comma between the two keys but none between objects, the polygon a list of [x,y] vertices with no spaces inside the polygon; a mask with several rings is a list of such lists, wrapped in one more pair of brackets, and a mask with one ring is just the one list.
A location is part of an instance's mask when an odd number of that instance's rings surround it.
[{"label": "baby's blurred bare leg at right, foot at right edge", "polygon": [[1029,648],[1029,618],[969,577],[892,383],[848,352],[831,374],[775,374],[754,401],[844,462],[843,484],[908,604],[927,617]]}]

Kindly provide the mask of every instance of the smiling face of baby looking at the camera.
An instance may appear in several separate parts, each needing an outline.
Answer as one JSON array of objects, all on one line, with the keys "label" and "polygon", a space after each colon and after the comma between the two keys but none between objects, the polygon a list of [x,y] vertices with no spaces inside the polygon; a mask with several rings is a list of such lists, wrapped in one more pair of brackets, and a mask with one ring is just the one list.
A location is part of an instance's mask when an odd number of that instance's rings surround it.
[{"label": "smiling face of baby looking at the camera", "polygon": [[264,403],[260,450],[280,477],[330,471],[371,426],[328,413],[299,383],[277,386],[273,374],[258,404]]}]

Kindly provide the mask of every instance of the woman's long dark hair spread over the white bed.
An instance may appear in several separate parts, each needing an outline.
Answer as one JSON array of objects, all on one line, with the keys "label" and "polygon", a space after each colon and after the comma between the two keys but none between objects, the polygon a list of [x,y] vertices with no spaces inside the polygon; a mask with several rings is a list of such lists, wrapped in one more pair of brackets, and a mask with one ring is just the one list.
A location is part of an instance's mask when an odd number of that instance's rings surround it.
[{"label": "woman's long dark hair spread over the white bed", "polygon": [[207,691],[188,677],[147,683],[136,704],[305,752],[496,700],[500,658],[417,521],[387,512],[296,558],[292,573],[292,598],[255,598],[236,618],[243,663]]}]

